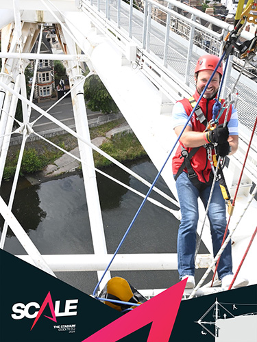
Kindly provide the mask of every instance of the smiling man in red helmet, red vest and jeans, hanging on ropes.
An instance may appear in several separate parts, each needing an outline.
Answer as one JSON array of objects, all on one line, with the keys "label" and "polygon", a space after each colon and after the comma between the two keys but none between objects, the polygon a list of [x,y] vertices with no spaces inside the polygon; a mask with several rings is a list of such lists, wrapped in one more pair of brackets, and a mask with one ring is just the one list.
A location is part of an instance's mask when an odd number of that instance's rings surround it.
[{"label": "smiling man in red helmet, red vest and jeans, hanging on ropes", "polygon": [[[175,103],[173,107],[173,129],[176,135],[179,136],[182,129],[184,129],[188,116],[193,110],[192,103],[195,104],[198,101],[219,61],[219,57],[216,55],[203,55],[197,61],[195,67],[196,90],[193,98],[190,100],[184,98]],[[178,272],[181,280],[188,278],[186,288],[195,287],[196,231],[199,218],[198,198],[201,198],[206,208],[213,181],[208,150],[211,151],[209,153],[212,155],[216,154],[217,157],[225,157],[235,153],[238,148],[238,118],[233,105],[223,111],[219,118],[219,124],[215,129],[206,131],[206,123],[212,119],[212,108],[216,102],[215,98],[217,98],[222,75],[223,66],[220,64],[208,88],[206,88],[204,96],[199,101],[200,109],[195,110],[180,137],[180,144],[172,161],[182,214],[178,231]],[[221,103],[223,102],[224,100],[221,100]],[[226,110],[228,110],[227,124],[223,127]],[[201,120],[199,116],[201,116]],[[202,120],[203,118],[204,120]],[[206,146],[210,148],[206,148]],[[221,248],[227,224],[225,200],[221,193],[219,181],[215,182],[208,209],[208,219],[215,257]],[[232,273],[231,243],[225,247],[221,254],[217,274],[219,280],[221,280],[221,286],[228,287],[234,277]],[[245,286],[247,283],[247,280],[241,280],[235,282],[234,286]]]}]

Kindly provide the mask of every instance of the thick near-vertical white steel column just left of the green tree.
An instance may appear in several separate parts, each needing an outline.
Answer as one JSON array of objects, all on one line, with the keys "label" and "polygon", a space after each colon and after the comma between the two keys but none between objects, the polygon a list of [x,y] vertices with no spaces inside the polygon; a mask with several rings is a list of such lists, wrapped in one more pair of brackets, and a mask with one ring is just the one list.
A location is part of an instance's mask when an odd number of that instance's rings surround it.
[{"label": "thick near-vertical white steel column just left of the green tree", "polygon": [[[73,112],[75,118],[76,131],[86,140],[90,141],[90,133],[88,128],[88,118],[86,114],[86,105],[84,99],[84,83],[82,75],[73,76],[77,72],[79,74],[79,66],[69,63],[71,68],[67,70],[70,75],[71,96],[73,102]],[[93,159],[93,150],[84,142],[78,140],[79,154],[82,161],[82,173],[84,177],[84,187],[86,191],[86,202],[88,205],[88,215],[90,220],[90,228],[93,239],[93,247],[95,254],[107,254],[106,238],[103,230],[103,220],[101,217],[101,207],[99,202],[99,194],[97,189],[97,179],[95,174],[95,163]],[[103,272],[97,272],[99,279]],[[106,285],[110,279],[110,272],[106,273],[103,278],[101,287]]]}]

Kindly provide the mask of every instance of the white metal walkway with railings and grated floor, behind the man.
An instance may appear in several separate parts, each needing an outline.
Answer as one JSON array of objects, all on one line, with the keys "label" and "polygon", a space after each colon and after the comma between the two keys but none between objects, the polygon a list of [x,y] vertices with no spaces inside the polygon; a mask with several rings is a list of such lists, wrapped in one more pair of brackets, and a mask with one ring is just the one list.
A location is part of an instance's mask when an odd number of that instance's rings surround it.
[{"label": "white metal walkway with railings and grated floor, behind the man", "polygon": [[[95,21],[99,29],[112,31],[116,40],[119,39],[121,42],[128,40],[136,44],[138,64],[142,66],[144,56],[147,56],[149,60],[156,63],[154,72],[167,74],[171,78],[175,77],[182,88],[189,86],[193,90],[195,88],[193,68],[199,55],[204,53],[221,55],[223,39],[228,31],[232,30],[232,25],[208,16],[195,8],[188,8],[178,1],[171,0],[164,1],[164,3],[166,5],[149,0],[145,1],[145,8],[134,8],[119,0],[81,0],[79,7],[91,16],[97,17],[98,14],[104,18],[103,23]],[[167,20],[158,19],[155,14],[156,10],[158,10],[158,16],[164,16]],[[183,16],[179,12],[187,15]],[[215,27],[216,31],[213,31],[212,27]],[[246,31],[242,34],[242,38],[251,37]],[[231,60],[232,57],[230,57]],[[151,74],[151,70],[147,72]],[[232,88],[237,77],[238,71],[230,66],[224,93]],[[162,81],[157,86],[160,84]],[[187,91],[186,88],[185,90]],[[251,130],[257,114],[256,82],[242,75],[237,90],[239,120]],[[177,95],[174,95],[175,100],[180,97],[180,94]]]}]

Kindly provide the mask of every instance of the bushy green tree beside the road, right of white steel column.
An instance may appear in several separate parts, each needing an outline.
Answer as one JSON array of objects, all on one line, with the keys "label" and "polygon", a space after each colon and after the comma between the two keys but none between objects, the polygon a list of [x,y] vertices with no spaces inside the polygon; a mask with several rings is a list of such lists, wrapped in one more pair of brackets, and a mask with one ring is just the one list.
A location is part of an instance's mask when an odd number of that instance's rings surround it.
[{"label": "bushy green tree beside the road, right of white steel column", "polygon": [[[88,70],[86,75],[88,74]],[[92,75],[86,79],[84,84],[84,98],[86,106],[93,111],[101,111],[105,114],[118,113],[119,108],[113,101],[108,90],[97,75]]]}]

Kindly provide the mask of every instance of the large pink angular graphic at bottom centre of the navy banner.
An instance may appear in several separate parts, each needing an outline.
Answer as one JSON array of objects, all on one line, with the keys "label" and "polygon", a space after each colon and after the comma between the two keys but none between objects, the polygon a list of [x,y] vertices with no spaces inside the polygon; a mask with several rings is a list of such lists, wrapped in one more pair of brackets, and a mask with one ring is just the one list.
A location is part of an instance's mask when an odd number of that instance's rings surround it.
[{"label": "large pink angular graphic at bottom centre of the navy banner", "polygon": [[82,342],[115,342],[151,323],[147,342],[168,342],[180,307],[186,279],[119,317]]}]

